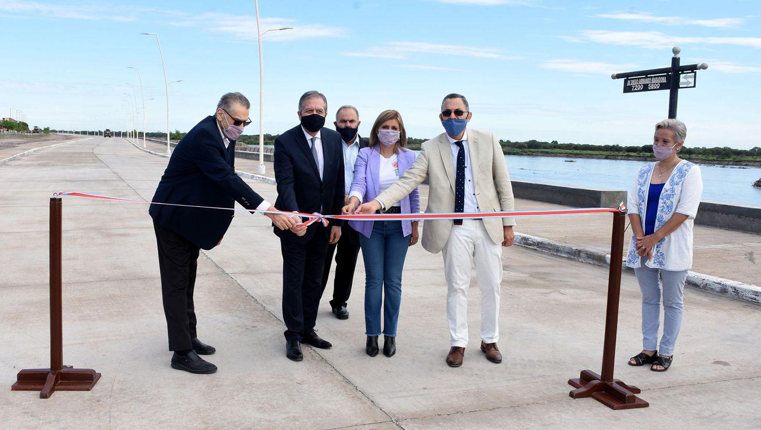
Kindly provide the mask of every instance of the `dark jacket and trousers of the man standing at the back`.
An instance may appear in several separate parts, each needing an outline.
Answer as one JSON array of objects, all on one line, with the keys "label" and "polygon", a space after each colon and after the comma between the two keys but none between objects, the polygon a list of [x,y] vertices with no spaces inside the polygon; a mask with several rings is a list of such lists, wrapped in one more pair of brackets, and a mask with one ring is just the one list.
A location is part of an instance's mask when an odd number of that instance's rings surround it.
[{"label": "dark jacket and trousers of the man standing at the back", "polygon": [[[366,139],[358,138],[358,140],[359,149],[368,147],[369,142]],[[346,163],[346,160],[343,160],[343,162]],[[352,229],[349,223],[343,223],[341,227],[341,239],[339,239],[338,243],[328,245],[325,255],[325,267],[323,267],[322,292],[320,296],[325,293],[325,287],[328,284],[334,253],[336,254],[336,276],[333,280],[333,300],[330,300],[330,307],[333,309],[348,305],[349,296],[352,294],[354,270],[357,267],[357,257],[359,255],[359,233],[355,229]]]}]

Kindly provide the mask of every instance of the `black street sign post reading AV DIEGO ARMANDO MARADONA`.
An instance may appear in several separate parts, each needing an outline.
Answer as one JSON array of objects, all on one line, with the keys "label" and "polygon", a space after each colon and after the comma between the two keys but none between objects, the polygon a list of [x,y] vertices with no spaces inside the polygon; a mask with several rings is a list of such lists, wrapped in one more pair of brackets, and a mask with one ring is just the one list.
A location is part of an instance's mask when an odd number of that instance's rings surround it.
[{"label": "black street sign post reading AV DIEGO ARMANDO MARADONA", "polygon": [[708,65],[680,65],[679,53],[682,49],[671,49],[671,67],[651,68],[650,70],[626,71],[610,75],[613,79],[623,79],[624,93],[644,93],[645,91],[669,90],[668,117],[677,118],[677,97],[679,90],[694,88],[698,70],[705,70]]}]

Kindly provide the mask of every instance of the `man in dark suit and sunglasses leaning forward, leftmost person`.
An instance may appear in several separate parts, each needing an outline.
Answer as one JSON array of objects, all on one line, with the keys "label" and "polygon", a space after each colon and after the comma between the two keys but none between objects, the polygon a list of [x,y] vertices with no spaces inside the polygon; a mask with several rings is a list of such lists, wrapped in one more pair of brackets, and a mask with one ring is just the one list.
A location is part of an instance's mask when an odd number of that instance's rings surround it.
[{"label": "man in dark suit and sunglasses leaning forward, leftmost person", "polygon": [[[186,372],[217,371],[217,366],[198,356],[213,354],[216,349],[196,335],[193,289],[200,249],[222,242],[234,211],[210,207],[232,209],[237,201],[250,210],[275,210],[235,173],[235,140],[251,122],[249,109],[243,94],[224,94],[215,115],[199,122],[177,144],[148,210],[158,244],[169,350],[174,351],[171,366]],[[279,229],[296,223],[288,215],[266,216]]]}]

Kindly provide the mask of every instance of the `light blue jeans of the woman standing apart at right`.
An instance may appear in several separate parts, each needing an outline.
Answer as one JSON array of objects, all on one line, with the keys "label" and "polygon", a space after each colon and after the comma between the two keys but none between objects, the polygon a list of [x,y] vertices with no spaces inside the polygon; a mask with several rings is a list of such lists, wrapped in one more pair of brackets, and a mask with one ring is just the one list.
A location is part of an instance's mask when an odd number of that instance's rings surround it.
[{"label": "light blue jeans of the woman standing apart at right", "polygon": [[[652,269],[645,266],[642,257],[640,267],[634,270],[639,289],[642,291],[642,349],[658,349],[658,327],[661,323],[661,285],[663,286],[664,334],[658,353],[673,356],[684,311],[684,281],[687,270],[673,271]],[[660,277],[659,277],[660,275]],[[662,282],[661,282],[662,281]]]}]

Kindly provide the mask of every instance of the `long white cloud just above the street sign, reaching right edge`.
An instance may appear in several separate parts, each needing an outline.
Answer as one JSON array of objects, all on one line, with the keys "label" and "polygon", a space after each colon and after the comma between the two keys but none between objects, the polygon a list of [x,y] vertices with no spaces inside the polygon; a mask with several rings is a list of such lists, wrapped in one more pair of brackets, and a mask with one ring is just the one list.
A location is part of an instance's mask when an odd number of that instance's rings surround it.
[{"label": "long white cloud just above the street sign, reaching right edge", "polygon": [[675,45],[734,45],[761,49],[761,37],[686,37],[671,36],[659,31],[584,30],[578,36],[564,36],[572,42],[607,43],[665,49]]}]

